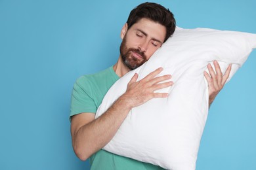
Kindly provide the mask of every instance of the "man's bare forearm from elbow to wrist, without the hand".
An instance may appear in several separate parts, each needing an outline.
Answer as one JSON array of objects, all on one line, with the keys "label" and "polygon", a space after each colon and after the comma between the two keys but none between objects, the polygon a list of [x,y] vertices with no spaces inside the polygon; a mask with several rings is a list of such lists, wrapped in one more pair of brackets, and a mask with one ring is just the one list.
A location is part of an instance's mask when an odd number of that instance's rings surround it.
[{"label": "man's bare forearm from elbow to wrist, without the hand", "polygon": [[77,156],[81,160],[87,160],[91,154],[104,147],[114,137],[130,109],[125,99],[119,97],[104,114],[81,126],[73,138]]}]

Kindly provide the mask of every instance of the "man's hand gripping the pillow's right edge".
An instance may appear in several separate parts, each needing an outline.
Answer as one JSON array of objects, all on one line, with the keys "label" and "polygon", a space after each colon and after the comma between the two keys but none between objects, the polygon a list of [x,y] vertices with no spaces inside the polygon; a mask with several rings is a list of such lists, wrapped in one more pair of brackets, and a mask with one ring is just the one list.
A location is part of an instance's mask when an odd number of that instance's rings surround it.
[{"label": "man's hand gripping the pillow's right edge", "polygon": [[213,103],[213,100],[223,88],[231,71],[231,64],[228,65],[228,68],[226,69],[224,75],[221,72],[221,67],[219,66],[219,63],[217,61],[213,61],[213,65],[215,67],[216,73],[213,70],[213,67],[211,67],[211,64],[207,65],[209,74],[206,71],[204,71],[203,73],[203,75],[205,76],[208,82],[208,87],[209,87],[209,106],[211,105],[211,103]]}]

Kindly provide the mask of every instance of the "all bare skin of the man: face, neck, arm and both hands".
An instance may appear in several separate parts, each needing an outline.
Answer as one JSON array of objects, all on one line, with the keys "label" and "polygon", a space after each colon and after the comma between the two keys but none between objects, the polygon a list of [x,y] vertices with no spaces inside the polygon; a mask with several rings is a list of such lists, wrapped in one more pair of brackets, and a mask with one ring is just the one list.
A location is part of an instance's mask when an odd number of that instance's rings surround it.
[{"label": "all bare skin of the man: face, neck, arm and both hands", "polygon": [[[129,29],[125,24],[121,29],[121,39],[125,39],[127,48],[136,48],[143,52],[147,60],[163,44],[165,33],[166,29],[163,25],[148,19],[141,19]],[[137,52],[129,52],[128,56],[137,58],[139,61],[143,60]],[[208,65],[209,74],[204,73],[209,84],[209,103],[223,88],[231,69],[230,65],[223,76],[217,61],[214,62],[214,65],[216,73],[211,65]],[[130,71],[124,65],[121,55],[119,55],[113,68],[120,77]],[[171,75],[157,76],[162,70],[162,68],[158,68],[140,81],[137,81],[138,75],[135,74],[127,85],[127,91],[100,117],[95,119],[95,113],[91,112],[72,116],[72,144],[74,152],[80,160],[87,160],[92,154],[104,147],[114,137],[129,110],[133,107],[142,105],[152,98],[168,96],[168,93],[154,93],[156,90],[173,85],[170,80]],[[161,83],[165,80],[168,81]],[[106,131],[106,129],[108,130]]]}]

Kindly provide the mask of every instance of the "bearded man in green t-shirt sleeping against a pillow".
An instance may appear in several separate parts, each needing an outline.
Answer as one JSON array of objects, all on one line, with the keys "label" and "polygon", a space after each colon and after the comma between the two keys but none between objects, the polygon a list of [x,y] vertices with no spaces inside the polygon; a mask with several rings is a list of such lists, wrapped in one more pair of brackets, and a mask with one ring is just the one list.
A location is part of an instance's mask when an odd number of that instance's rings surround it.
[{"label": "bearded man in green t-shirt sleeping against a pillow", "polygon": [[[77,79],[72,92],[71,133],[75,154],[81,160],[91,160],[91,169],[161,169],[150,163],[142,163],[101,150],[117,132],[129,110],[156,97],[168,93],[154,93],[171,86],[171,75],[157,76],[162,68],[137,81],[135,74],[127,85],[127,91],[102,116],[95,119],[95,112],[108,89],[116,80],[142,65],[175,31],[173,14],[156,3],[142,3],[133,9],[127,23],[121,29],[120,55],[117,63],[95,75]],[[170,56],[171,57],[171,56]],[[215,62],[216,74],[208,65],[205,74],[209,83],[209,101],[212,102],[223,88],[231,67],[221,75]],[[164,81],[164,82],[163,82]]]}]

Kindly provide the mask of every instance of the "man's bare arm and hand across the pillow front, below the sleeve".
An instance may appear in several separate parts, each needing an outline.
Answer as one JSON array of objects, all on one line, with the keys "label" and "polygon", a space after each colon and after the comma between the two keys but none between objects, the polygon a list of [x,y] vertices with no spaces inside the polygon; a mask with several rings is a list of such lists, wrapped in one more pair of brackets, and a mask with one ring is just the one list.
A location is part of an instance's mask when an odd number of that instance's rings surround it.
[{"label": "man's bare arm and hand across the pillow front, below the sleeve", "polygon": [[173,84],[160,83],[171,78],[171,75],[156,77],[161,71],[162,69],[157,69],[138,82],[138,75],[135,74],[127,85],[127,91],[97,119],[93,113],[72,116],[72,144],[78,158],[87,160],[91,154],[105,146],[114,137],[133,107],[142,105],[152,98],[167,97],[168,93],[154,93]]}]

